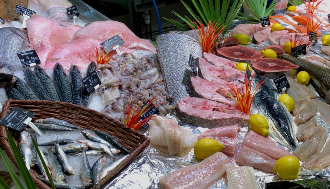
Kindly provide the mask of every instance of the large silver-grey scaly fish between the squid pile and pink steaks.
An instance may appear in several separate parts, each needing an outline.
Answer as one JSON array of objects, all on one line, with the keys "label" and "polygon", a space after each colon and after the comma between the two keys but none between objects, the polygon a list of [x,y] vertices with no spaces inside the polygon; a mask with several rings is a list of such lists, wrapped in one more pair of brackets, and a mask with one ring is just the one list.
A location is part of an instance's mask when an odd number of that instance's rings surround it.
[{"label": "large silver-grey scaly fish between the squid pile and pink steaks", "polygon": [[188,65],[189,55],[202,57],[202,48],[195,39],[184,34],[162,34],[156,38],[156,51],[166,90],[172,97],[170,104],[175,104],[188,96],[182,80],[186,70],[191,70]]}]

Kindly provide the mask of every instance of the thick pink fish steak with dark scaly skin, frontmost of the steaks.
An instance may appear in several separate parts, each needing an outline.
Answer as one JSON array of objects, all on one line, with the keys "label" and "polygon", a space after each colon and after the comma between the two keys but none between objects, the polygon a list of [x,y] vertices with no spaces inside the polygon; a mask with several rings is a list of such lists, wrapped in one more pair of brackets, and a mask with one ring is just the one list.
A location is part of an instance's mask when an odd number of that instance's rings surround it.
[{"label": "thick pink fish steak with dark scaly skin, frontmost of the steaks", "polygon": [[248,125],[249,115],[242,111],[203,98],[185,97],[178,102],[177,116],[184,122],[215,128],[227,125]]}]

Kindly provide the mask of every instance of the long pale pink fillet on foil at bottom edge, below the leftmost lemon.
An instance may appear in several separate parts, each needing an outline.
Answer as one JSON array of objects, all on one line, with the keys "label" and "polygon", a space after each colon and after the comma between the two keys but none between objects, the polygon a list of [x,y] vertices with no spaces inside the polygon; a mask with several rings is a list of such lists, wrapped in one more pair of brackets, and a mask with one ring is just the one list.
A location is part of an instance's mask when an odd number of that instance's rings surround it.
[{"label": "long pale pink fillet on foil at bottom edge, below the leftmost lemon", "polygon": [[200,163],[160,176],[159,183],[165,189],[207,189],[231,167],[235,165],[230,159],[222,152],[216,152]]}]

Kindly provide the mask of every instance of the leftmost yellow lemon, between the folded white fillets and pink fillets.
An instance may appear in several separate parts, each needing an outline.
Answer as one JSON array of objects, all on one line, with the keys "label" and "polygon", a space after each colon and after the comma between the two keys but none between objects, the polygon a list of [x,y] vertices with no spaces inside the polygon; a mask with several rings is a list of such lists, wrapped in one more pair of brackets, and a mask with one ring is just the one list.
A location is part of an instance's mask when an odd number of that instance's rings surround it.
[{"label": "leftmost yellow lemon, between the folded white fillets and pink fillets", "polygon": [[216,140],[204,138],[196,142],[194,153],[196,158],[205,159],[223,149],[225,149],[225,147]]}]

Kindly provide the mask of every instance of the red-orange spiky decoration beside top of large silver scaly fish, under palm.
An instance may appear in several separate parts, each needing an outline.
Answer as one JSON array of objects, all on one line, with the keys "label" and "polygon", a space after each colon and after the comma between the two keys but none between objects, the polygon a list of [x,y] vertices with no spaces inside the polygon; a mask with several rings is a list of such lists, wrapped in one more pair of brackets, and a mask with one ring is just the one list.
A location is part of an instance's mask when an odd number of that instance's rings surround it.
[{"label": "red-orange spiky decoration beside top of large silver scaly fish, under palm", "polygon": [[194,29],[190,24],[188,24],[188,26],[190,26],[197,34],[203,52],[209,53],[213,48],[216,47],[216,45],[220,43],[220,41],[216,42],[224,28],[223,25],[220,26],[220,20],[217,22],[214,21],[213,23],[211,23],[211,20],[209,20],[208,28],[206,31],[201,20],[198,23],[196,21],[190,22],[197,26],[197,29]]}]

